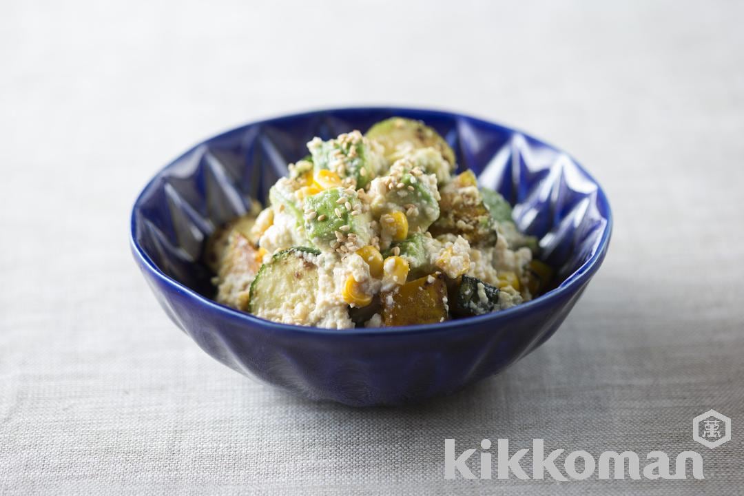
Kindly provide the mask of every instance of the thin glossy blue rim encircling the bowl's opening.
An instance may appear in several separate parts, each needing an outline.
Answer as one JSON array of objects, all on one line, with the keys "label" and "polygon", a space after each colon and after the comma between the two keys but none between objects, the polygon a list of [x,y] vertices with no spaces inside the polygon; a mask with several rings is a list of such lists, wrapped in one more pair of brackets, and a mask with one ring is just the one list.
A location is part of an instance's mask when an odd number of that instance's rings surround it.
[{"label": "thin glossy blue rim encircling the bowl's opening", "polygon": [[[289,324],[289,323],[269,321],[269,320],[251,315],[248,312],[241,312],[240,310],[233,309],[229,306],[222,305],[221,303],[217,303],[217,301],[214,301],[211,298],[206,297],[203,294],[200,294],[199,292],[194,291],[190,287],[186,286],[185,284],[180,283],[179,281],[173,279],[173,277],[170,277],[167,274],[165,274],[163,271],[161,271],[161,269],[158,268],[157,265],[155,265],[155,263],[150,258],[150,256],[148,256],[147,253],[144,251],[144,248],[142,248],[141,245],[137,242],[137,239],[136,239],[137,215],[136,213],[139,207],[141,206],[141,202],[142,202],[144,194],[147,193],[154,186],[156,181],[161,179],[162,173],[164,173],[165,170],[167,170],[170,167],[173,167],[173,164],[181,160],[186,155],[189,155],[190,153],[194,152],[196,149],[199,148],[199,146],[203,146],[208,141],[213,141],[213,140],[222,138],[225,135],[229,135],[232,132],[237,132],[238,129],[243,129],[246,126],[255,126],[255,125],[260,125],[260,124],[265,124],[265,123],[275,123],[275,122],[280,122],[283,120],[296,119],[298,117],[310,117],[312,115],[320,115],[320,114],[324,114],[327,112],[365,112],[365,111],[403,112],[403,113],[417,114],[417,115],[422,115],[422,116],[429,115],[431,117],[440,117],[440,118],[441,117],[463,118],[465,120],[469,120],[469,121],[481,124],[483,126],[522,135],[525,138],[536,141],[537,143],[542,144],[544,146],[548,146],[549,148],[554,149],[555,151],[561,153],[562,155],[565,155],[571,161],[573,161],[576,167],[578,167],[578,169],[582,173],[584,173],[586,177],[589,178],[594,183],[594,185],[596,185],[597,202],[606,211],[606,221],[607,221],[606,226],[600,238],[600,242],[597,244],[597,248],[594,250],[594,253],[591,254],[591,257],[589,257],[588,260],[586,260],[582,265],[580,265],[579,268],[577,268],[571,274],[568,274],[568,277],[566,277],[566,279],[562,283],[560,283],[559,286],[557,286],[554,289],[551,289],[551,291],[547,293],[539,295],[539,297],[536,297],[533,300],[527,301],[525,303],[520,303],[519,305],[513,306],[510,309],[501,310],[499,312],[491,312],[490,314],[485,314],[485,315],[475,315],[473,317],[458,318],[458,319],[453,319],[451,321],[417,324],[414,326],[353,327],[350,329],[327,329],[324,327],[301,326],[301,325],[295,325],[295,324]],[[422,118],[425,118],[425,117],[422,117]],[[135,202],[132,205],[132,211],[130,213],[129,222],[130,222],[129,224],[129,245],[130,245],[130,248],[132,249],[132,254],[135,256],[135,260],[138,261],[141,268],[146,268],[150,274],[152,274],[154,277],[157,277],[158,280],[161,280],[161,282],[167,285],[171,290],[175,290],[176,292],[187,295],[191,299],[195,300],[196,303],[199,303],[207,307],[211,311],[222,312],[225,315],[228,315],[229,317],[234,318],[234,319],[237,318],[239,321],[243,321],[246,324],[250,324],[254,326],[263,326],[263,327],[267,327],[269,329],[272,329],[278,332],[350,335],[350,336],[351,335],[373,336],[373,335],[383,335],[383,334],[384,335],[391,335],[391,334],[410,335],[410,334],[417,334],[421,332],[443,332],[449,329],[458,329],[464,326],[472,326],[478,323],[486,323],[486,322],[497,323],[498,321],[505,321],[513,316],[518,316],[523,313],[527,313],[533,310],[540,309],[544,306],[547,306],[548,303],[551,302],[551,300],[558,298],[561,294],[570,293],[572,292],[572,290],[580,288],[581,286],[589,282],[589,280],[594,275],[594,273],[597,271],[597,269],[600,267],[600,265],[602,264],[606,256],[607,248],[609,246],[609,240],[612,237],[612,225],[613,225],[612,209],[610,207],[609,201],[607,199],[607,196],[601,184],[594,178],[593,175],[589,173],[589,171],[587,171],[580,164],[579,161],[577,161],[574,157],[572,157],[570,154],[563,151],[562,149],[558,148],[557,146],[553,146],[552,144],[546,141],[536,138],[534,135],[531,135],[530,133],[522,132],[521,129],[516,129],[510,126],[504,126],[504,125],[495,123],[490,120],[484,120],[479,117],[473,117],[472,115],[461,114],[459,112],[449,112],[446,110],[439,110],[439,109],[420,109],[420,108],[415,108],[415,107],[400,107],[400,106],[347,106],[347,107],[314,109],[314,110],[309,110],[306,112],[298,112],[298,113],[293,113],[293,114],[279,115],[277,117],[268,117],[268,118],[264,118],[261,120],[254,120],[248,123],[241,124],[240,126],[232,127],[231,129],[227,129],[223,132],[219,132],[217,135],[213,135],[209,138],[205,138],[202,141],[199,141],[199,143],[195,144],[194,146],[191,146],[189,149],[187,149],[187,151],[183,152],[181,155],[177,156],[176,158],[173,158],[164,167],[161,167],[157,171],[157,173],[155,173],[155,175],[153,175],[153,177],[150,178],[149,181],[147,181],[147,184],[145,184],[145,186],[142,188],[140,193],[138,193],[137,199],[135,199]]]}]

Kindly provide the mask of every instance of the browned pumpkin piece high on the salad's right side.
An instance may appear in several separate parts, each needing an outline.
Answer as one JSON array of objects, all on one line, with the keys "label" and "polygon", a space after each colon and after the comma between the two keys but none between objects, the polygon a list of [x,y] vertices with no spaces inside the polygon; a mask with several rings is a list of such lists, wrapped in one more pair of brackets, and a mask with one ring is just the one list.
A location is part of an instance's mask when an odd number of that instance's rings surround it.
[{"label": "browned pumpkin piece high on the salad's right side", "polygon": [[432,235],[458,234],[471,244],[496,242],[496,226],[472,170],[456,175],[439,193],[441,215],[429,228]]}]

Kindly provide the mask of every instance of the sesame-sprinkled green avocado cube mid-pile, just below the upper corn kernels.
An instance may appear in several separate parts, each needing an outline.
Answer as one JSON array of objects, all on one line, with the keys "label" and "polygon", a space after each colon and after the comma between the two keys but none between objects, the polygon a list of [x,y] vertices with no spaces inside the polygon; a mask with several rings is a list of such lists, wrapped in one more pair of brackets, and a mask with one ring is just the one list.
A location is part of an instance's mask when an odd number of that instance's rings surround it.
[{"label": "sesame-sprinkled green avocado cube mid-pile, just below the upper corn kernels", "polygon": [[333,187],[305,199],[304,228],[310,241],[318,248],[336,241],[353,240],[361,248],[371,238],[371,216],[364,212],[356,191]]}]

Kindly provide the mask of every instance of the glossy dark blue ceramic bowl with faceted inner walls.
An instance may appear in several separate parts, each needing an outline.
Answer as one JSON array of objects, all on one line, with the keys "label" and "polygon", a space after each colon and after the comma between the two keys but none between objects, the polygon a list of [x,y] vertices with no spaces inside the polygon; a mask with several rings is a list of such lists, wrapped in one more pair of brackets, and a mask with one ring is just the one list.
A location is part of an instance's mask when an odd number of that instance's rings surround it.
[{"label": "glossy dark blue ceramic bowl with faceted inner walls", "polygon": [[[557,268],[550,292],[504,312],[381,329],[291,326],[211,300],[202,242],[266,200],[314,136],[327,139],[394,115],[443,135],[461,169],[504,195],[517,225]],[[513,129],[429,110],[333,109],[248,124],[199,144],[161,170],[132,208],[132,251],[158,302],[202,350],[247,376],[311,399],[400,405],[452,393],[504,370],[550,337],[600,267],[612,215],[603,190],[571,157]]]}]

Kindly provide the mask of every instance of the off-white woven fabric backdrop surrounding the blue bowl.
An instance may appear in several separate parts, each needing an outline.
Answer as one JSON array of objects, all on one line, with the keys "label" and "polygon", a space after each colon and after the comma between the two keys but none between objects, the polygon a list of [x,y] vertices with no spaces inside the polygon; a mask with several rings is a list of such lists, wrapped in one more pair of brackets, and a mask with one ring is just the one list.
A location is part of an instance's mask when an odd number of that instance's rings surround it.
[{"label": "off-white woven fabric backdrop surrounding the blue bowl", "polygon": [[[736,494],[744,475],[744,16],[734,2],[43,2],[0,14],[0,493]],[[606,263],[507,372],[403,409],[213,361],[131,260],[141,186],[258,117],[391,103],[567,149]],[[691,420],[715,408],[711,451]],[[703,481],[443,480],[443,439],[696,449]]]}]

